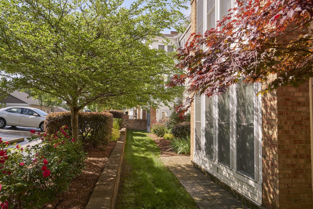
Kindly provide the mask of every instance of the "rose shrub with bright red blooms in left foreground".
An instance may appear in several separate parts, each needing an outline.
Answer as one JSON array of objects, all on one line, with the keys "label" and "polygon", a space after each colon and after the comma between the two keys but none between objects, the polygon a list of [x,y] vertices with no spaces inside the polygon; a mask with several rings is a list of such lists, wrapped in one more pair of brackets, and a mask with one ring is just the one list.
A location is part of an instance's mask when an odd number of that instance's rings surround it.
[{"label": "rose shrub with bright red blooms in left foreground", "polygon": [[[29,141],[36,139],[34,131]],[[42,208],[67,189],[85,163],[79,141],[66,126],[41,135],[37,144],[23,148],[0,143],[0,208]]]}]

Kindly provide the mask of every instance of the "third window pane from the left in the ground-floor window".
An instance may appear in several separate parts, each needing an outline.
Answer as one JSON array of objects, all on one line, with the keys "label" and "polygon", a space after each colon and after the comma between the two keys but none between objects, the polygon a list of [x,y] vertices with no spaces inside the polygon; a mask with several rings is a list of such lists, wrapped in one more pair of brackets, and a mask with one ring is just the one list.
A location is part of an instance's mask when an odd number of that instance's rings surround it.
[{"label": "third window pane from the left in the ground-floor window", "polygon": [[230,166],[229,89],[218,96],[218,162]]}]

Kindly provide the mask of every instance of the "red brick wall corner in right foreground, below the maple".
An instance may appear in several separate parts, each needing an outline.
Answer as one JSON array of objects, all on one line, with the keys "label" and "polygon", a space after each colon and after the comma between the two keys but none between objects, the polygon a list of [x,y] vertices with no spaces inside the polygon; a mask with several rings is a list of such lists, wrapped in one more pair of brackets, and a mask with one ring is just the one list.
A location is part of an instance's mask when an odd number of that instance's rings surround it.
[{"label": "red brick wall corner in right foreground, below the maple", "polygon": [[309,88],[309,82],[280,87],[262,97],[262,204],[267,208],[313,208]]}]

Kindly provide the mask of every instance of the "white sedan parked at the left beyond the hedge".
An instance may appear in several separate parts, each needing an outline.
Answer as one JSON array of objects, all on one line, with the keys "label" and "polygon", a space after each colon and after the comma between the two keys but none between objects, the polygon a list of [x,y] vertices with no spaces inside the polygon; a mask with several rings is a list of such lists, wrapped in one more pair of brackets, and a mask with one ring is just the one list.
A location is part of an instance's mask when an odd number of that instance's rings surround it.
[{"label": "white sedan parked at the left beyond the hedge", "polygon": [[5,107],[0,109],[0,128],[23,126],[44,131],[47,113],[32,107]]}]

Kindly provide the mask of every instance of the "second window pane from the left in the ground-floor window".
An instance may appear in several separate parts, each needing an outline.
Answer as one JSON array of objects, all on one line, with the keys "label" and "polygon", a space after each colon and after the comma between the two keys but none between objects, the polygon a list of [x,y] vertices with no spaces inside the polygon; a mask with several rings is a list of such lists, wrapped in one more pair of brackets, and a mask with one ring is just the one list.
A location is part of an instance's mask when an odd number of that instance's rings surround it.
[{"label": "second window pane from the left in the ground-floor window", "polygon": [[205,155],[213,159],[213,97],[205,97]]}]

